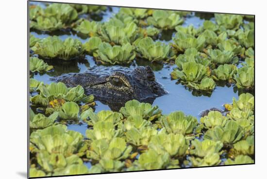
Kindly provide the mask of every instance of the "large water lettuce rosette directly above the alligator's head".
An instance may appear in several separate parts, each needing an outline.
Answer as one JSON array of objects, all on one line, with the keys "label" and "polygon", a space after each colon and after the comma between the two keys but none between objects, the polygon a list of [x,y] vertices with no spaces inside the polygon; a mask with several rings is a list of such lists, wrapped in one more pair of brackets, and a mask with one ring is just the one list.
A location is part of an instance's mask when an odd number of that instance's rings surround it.
[{"label": "large water lettuce rosette directly above the alligator's head", "polygon": [[112,47],[110,44],[103,42],[99,45],[95,56],[103,64],[129,64],[134,60],[135,52],[130,43]]}]

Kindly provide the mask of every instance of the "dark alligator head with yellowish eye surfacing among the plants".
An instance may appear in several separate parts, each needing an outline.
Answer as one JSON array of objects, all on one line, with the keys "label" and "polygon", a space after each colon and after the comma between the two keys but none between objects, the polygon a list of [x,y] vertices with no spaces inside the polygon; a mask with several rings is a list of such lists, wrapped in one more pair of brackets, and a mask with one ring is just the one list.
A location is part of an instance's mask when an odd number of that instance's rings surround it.
[{"label": "dark alligator head with yellowish eye surfacing among the plants", "polygon": [[68,87],[81,85],[86,95],[118,111],[125,102],[136,99],[152,104],[155,98],[167,94],[155,79],[150,66],[93,66],[83,73],[68,73],[51,80],[64,82]]}]

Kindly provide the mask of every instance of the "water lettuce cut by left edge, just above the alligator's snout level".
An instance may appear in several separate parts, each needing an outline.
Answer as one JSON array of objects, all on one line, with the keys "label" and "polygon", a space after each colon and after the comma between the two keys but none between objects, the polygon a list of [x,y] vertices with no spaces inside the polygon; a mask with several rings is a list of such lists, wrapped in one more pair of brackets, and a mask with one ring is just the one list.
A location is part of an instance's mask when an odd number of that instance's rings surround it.
[{"label": "water lettuce cut by left edge, just above the alligator's snout level", "polygon": [[31,72],[46,72],[53,69],[52,65],[48,65],[43,60],[37,57],[30,57],[30,71]]}]

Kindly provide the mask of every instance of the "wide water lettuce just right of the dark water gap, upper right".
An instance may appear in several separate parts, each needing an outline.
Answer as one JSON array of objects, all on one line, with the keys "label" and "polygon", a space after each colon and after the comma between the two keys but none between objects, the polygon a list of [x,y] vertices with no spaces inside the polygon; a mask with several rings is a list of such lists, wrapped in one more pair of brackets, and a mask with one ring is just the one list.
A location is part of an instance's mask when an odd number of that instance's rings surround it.
[{"label": "wide water lettuce just right of the dark water gap, upper right", "polygon": [[184,50],[189,48],[196,48],[199,51],[201,51],[205,46],[205,37],[199,36],[196,38],[193,35],[183,33],[182,31],[175,34],[175,37],[173,37],[173,44],[172,46],[181,52],[184,52]]}]

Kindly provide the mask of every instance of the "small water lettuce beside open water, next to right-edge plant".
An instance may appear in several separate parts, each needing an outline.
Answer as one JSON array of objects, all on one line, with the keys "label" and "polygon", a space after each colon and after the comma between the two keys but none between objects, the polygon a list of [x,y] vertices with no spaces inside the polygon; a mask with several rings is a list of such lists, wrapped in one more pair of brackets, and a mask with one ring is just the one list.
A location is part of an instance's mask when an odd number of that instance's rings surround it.
[{"label": "small water lettuce beside open water, next to right-edge plant", "polygon": [[215,80],[222,80],[222,81],[233,81],[234,74],[237,71],[237,67],[235,65],[219,65],[216,69],[212,71],[212,78]]}]

